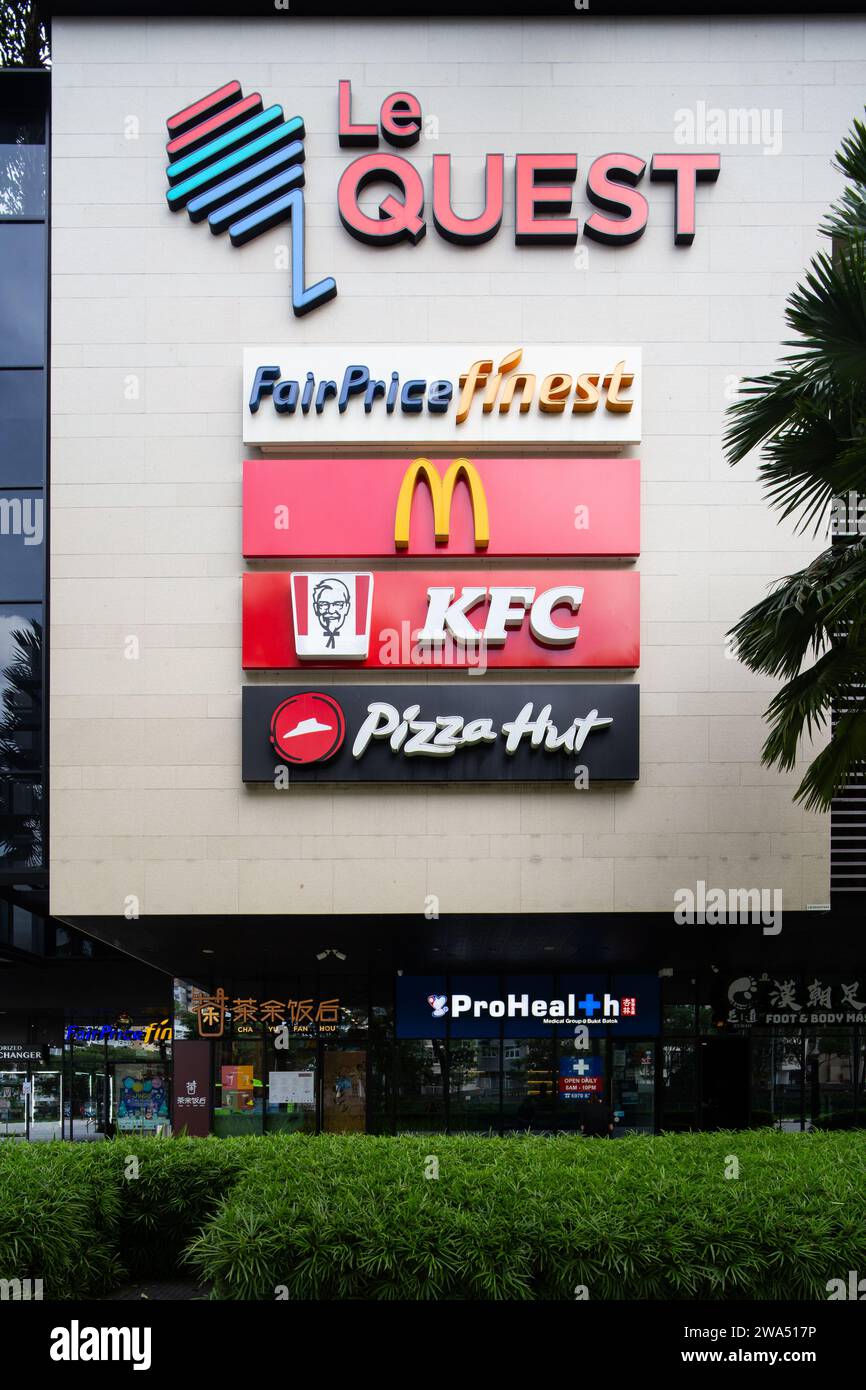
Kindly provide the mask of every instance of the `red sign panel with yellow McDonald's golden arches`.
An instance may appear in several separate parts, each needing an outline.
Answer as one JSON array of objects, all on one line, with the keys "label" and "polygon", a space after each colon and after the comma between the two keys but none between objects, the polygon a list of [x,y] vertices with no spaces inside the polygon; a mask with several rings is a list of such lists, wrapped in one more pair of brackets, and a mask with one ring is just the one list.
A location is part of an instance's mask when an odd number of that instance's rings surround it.
[{"label": "red sign panel with yellow McDonald's golden arches", "polygon": [[639,471],[638,459],[247,459],[243,553],[639,555]]}]

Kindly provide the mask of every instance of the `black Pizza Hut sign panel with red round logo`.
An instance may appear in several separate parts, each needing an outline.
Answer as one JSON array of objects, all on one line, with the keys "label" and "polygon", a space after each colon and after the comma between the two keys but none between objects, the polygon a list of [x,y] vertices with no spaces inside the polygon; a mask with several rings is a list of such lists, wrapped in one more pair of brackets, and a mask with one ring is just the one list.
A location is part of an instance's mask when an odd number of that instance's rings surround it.
[{"label": "black Pizza Hut sign panel with red round logo", "polygon": [[243,781],[637,781],[638,706],[626,684],[247,685]]}]

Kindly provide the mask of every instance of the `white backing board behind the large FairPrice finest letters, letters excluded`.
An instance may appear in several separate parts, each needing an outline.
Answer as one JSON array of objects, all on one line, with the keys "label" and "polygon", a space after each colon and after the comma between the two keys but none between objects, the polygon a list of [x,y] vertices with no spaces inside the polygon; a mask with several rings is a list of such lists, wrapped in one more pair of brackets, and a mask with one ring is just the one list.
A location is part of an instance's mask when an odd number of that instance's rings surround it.
[{"label": "white backing board behind the large FairPrice finest letters, letters excluded", "polygon": [[[523,359],[506,374],[505,381],[523,371],[535,374],[535,395],[530,410],[520,413],[521,393],[517,389],[507,413],[500,413],[496,404],[489,414],[484,414],[481,386],[473,398],[468,416],[463,424],[457,424],[460,375],[474,361],[484,359],[492,359],[496,368],[503,357],[520,346]],[[634,374],[632,384],[621,389],[623,398],[634,402],[631,410],[607,410],[603,389],[592,411],[575,414],[571,410],[574,395],[566,400],[562,413],[550,414],[538,409],[538,391],[545,377],[564,373],[575,382],[584,373],[598,373],[603,378],[619,361],[626,363],[626,373]],[[316,389],[321,381],[335,381],[339,391],[343,373],[350,366],[367,367],[370,378],[384,381],[386,386],[392,371],[396,371],[400,389],[411,379],[425,381],[428,389],[432,381],[450,381],[455,393],[445,414],[432,414],[427,409],[427,396],[418,414],[407,414],[399,403],[388,414],[381,396],[374,400],[370,414],[366,414],[363,393],[352,396],[342,414],[334,396],[324,403],[321,414],[313,407],[304,416],[300,406],[293,414],[278,414],[270,395],[261,396],[256,414],[249,409],[259,367],[279,367],[281,378],[297,381],[300,389],[307,371],[311,371]],[[641,349],[610,343],[455,343],[445,348],[435,343],[335,343],[332,348],[263,343],[243,349],[243,442],[268,452],[303,449],[304,453],[324,448],[406,450],[407,443],[452,450],[505,448],[507,452],[528,446],[559,450],[598,445],[620,448],[641,439]]]}]

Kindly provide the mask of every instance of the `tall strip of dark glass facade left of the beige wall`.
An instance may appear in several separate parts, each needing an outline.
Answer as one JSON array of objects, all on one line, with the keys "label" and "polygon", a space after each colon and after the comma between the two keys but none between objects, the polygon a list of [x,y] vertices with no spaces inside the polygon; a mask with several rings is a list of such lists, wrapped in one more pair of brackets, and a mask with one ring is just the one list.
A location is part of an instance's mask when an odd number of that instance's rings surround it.
[{"label": "tall strip of dark glass facade left of the beige wall", "polygon": [[0,78],[0,883],[46,883],[49,76]]}]

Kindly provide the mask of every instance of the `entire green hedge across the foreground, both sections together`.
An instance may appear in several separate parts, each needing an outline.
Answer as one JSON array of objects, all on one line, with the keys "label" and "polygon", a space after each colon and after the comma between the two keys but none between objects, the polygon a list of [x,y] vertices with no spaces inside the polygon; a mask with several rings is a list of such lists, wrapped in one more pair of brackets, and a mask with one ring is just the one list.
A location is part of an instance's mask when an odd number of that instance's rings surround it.
[{"label": "entire green hedge across the foreground, both sections together", "polygon": [[865,1268],[855,1133],[0,1144],[0,1279],[46,1298],[826,1298]]}]

